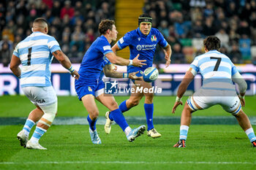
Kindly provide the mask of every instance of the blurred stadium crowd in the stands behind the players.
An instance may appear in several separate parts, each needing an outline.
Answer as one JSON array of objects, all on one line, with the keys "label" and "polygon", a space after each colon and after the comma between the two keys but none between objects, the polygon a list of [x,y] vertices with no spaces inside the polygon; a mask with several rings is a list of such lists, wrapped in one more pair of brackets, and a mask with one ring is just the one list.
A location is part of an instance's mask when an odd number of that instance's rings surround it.
[{"label": "blurred stadium crowd in the stands behind the players", "polygon": [[[153,27],[171,45],[172,63],[190,63],[203,53],[203,39],[209,35],[219,37],[220,52],[233,63],[256,63],[255,0],[145,0],[143,12],[151,15]],[[115,0],[1,1],[0,63],[10,63],[13,48],[31,34],[37,17],[48,20],[49,34],[58,39],[72,63],[80,63],[99,36],[100,20],[114,16]],[[165,63],[164,56],[157,47],[155,63]]]}]

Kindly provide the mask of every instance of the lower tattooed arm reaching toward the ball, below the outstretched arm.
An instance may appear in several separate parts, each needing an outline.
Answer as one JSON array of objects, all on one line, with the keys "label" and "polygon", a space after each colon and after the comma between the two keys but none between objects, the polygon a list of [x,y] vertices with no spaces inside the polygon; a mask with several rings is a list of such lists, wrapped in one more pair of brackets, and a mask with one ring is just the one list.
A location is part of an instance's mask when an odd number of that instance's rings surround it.
[{"label": "lower tattooed arm reaching toward the ball, below the outstretched arm", "polygon": [[133,73],[121,73],[121,72],[116,72],[115,69],[113,69],[113,66],[111,64],[105,65],[103,68],[103,72],[106,77],[113,77],[113,78],[130,78],[133,80],[142,80],[141,77],[137,77],[136,74],[138,72],[133,72]]}]

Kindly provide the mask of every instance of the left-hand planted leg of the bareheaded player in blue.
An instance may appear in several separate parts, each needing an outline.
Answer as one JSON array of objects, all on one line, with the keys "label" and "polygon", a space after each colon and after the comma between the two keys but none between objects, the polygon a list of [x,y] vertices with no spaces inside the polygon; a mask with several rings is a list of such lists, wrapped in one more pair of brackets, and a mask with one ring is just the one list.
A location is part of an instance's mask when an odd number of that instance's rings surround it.
[{"label": "left-hand planted leg of the bareheaded player in blue", "polygon": [[83,101],[83,106],[86,107],[89,115],[87,120],[89,122],[89,133],[91,135],[91,142],[93,144],[101,144],[101,140],[99,139],[99,135],[96,129],[97,118],[99,117],[99,109],[94,101],[94,96],[91,94],[87,94],[81,98]]}]

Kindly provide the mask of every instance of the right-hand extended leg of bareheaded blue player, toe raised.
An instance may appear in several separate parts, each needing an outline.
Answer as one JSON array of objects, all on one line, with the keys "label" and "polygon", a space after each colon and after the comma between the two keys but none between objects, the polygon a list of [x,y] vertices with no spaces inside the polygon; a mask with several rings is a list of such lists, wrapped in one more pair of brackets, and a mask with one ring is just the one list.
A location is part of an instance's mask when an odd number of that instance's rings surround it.
[{"label": "right-hand extended leg of bareheaded blue player, toe raised", "polygon": [[[97,93],[95,93],[95,96],[97,96]],[[140,127],[138,128],[130,128],[127,120],[125,120],[124,118],[123,113],[118,108],[118,104],[116,103],[115,98],[112,95],[106,95],[105,93],[101,93],[96,98],[103,105],[105,105],[105,107],[110,109],[113,120],[115,120],[115,122],[124,131],[129,142],[134,141],[136,137],[140,136],[140,134],[143,134],[143,131],[145,131],[145,125],[140,125]],[[105,132],[109,134],[110,129],[108,129],[108,131],[105,130]]]}]

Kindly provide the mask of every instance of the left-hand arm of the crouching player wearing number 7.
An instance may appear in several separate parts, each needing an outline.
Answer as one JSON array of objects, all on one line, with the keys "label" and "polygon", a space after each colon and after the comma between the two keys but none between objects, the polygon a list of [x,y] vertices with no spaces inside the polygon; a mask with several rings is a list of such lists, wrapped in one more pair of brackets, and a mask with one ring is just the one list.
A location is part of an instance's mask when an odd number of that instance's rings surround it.
[{"label": "left-hand arm of the crouching player wearing number 7", "polygon": [[178,86],[176,102],[173,106],[172,113],[175,113],[176,108],[178,107],[178,105],[183,104],[182,101],[181,101],[181,98],[184,95],[184,93],[186,92],[187,87],[189,86],[190,82],[192,82],[192,80],[194,79],[196,74],[197,74],[197,72],[194,69],[192,69],[191,67],[186,72],[183,80],[181,81],[181,84]]}]

